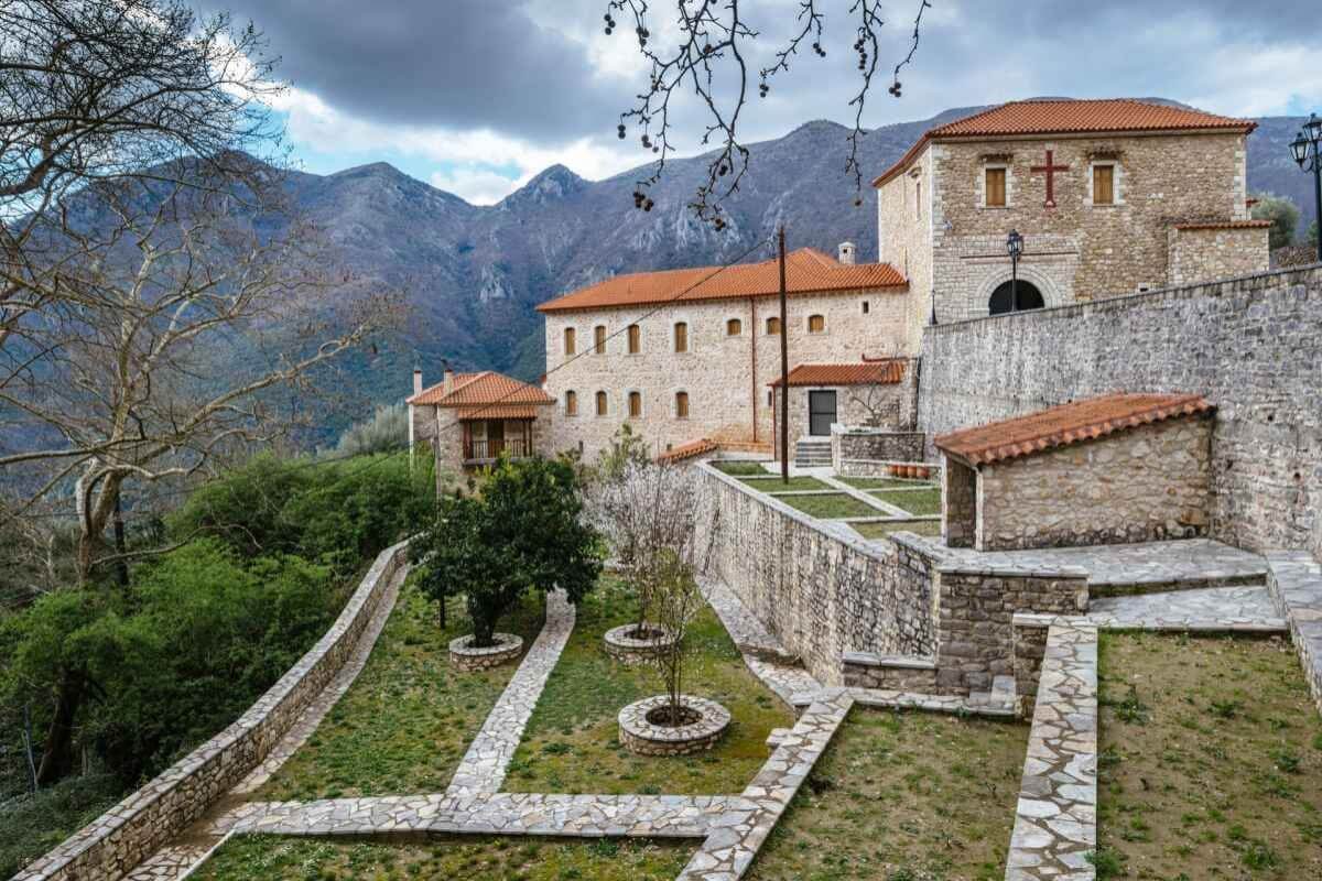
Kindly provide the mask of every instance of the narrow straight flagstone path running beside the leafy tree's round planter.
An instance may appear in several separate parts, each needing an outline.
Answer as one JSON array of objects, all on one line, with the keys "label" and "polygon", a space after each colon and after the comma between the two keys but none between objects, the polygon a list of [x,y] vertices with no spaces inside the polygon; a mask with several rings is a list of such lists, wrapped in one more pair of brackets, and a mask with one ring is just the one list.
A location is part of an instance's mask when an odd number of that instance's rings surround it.
[{"label": "narrow straight flagstone path running beside the leafy tree's round planter", "polygon": [[542,696],[546,679],[574,631],[574,605],[563,590],[546,594],[546,623],[505,686],[500,700],[492,707],[481,730],[468,745],[468,752],[446,790],[447,795],[500,791],[509,761],[514,758],[524,728],[537,707],[537,699]]}]

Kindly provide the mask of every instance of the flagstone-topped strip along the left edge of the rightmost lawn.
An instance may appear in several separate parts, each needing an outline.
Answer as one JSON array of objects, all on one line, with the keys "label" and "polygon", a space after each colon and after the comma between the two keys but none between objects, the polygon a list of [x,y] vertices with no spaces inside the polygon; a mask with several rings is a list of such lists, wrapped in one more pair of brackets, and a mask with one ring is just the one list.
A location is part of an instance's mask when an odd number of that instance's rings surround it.
[{"label": "flagstone-topped strip along the left edge of the rightmost lawn", "polygon": [[1097,847],[1097,627],[1047,633],[1006,881],[1093,881]]}]

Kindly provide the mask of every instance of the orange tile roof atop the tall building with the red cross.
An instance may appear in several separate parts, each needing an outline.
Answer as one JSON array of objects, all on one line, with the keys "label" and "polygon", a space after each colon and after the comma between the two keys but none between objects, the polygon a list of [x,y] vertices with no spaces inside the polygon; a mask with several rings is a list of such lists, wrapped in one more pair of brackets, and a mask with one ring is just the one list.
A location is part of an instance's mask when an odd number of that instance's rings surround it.
[{"label": "orange tile roof atop the tall building with the red cross", "polygon": [[1015,100],[929,129],[898,162],[873,181],[873,186],[880,186],[908,168],[932,140],[1210,129],[1247,135],[1255,128],[1257,123],[1248,119],[1149,104],[1132,98]]}]

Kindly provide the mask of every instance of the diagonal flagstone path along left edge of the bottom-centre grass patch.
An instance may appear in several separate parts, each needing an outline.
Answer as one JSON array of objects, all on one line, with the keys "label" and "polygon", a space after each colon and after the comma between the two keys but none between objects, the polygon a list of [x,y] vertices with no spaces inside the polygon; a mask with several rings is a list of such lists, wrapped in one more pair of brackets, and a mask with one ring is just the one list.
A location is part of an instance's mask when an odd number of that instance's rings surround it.
[{"label": "diagonal flagstone path along left edge of the bottom-centre grass patch", "polygon": [[731,806],[715,819],[702,847],[677,881],[735,881],[748,870],[853,704],[854,699],[843,689],[836,689],[830,695],[824,693],[821,700],[804,711],[744,787],[743,798],[748,806]]}]

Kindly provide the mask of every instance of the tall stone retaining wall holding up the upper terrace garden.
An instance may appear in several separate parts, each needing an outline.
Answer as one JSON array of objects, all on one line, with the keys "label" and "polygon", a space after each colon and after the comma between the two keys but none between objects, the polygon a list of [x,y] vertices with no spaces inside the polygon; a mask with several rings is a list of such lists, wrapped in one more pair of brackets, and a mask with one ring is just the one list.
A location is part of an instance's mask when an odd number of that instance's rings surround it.
[{"label": "tall stone retaining wall holding up the upper terrace garden", "polygon": [[711,571],[804,666],[841,684],[845,651],[932,655],[931,563],[813,520],[710,465],[698,469]]}]

